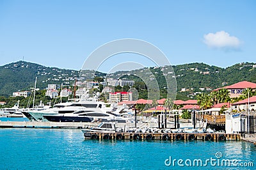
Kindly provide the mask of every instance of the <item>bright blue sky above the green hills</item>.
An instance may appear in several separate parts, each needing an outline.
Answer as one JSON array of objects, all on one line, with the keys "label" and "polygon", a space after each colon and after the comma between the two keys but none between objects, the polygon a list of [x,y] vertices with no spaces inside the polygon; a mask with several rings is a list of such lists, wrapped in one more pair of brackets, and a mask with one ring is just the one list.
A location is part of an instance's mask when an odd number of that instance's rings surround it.
[{"label": "bright blue sky above the green hills", "polygon": [[[226,68],[256,62],[255,30],[253,0],[1,0],[0,65],[24,59],[80,70],[105,43],[134,38],[156,46],[171,65],[199,62]],[[128,61],[156,65],[139,54],[116,54],[98,70],[109,72]]]}]

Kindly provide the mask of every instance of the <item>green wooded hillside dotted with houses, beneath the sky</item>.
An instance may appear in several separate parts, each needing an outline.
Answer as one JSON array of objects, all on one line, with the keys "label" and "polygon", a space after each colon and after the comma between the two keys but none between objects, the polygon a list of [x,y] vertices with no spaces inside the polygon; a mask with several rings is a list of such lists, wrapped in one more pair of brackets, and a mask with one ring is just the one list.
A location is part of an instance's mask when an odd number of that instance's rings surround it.
[{"label": "green wooded hillside dotted with houses, beneath the sky", "polygon": [[[113,79],[126,77],[134,81],[141,81],[136,75],[149,69],[159,82],[159,88],[162,89],[166,87],[166,82],[161,71],[168,67],[170,68],[170,66],[150,67],[115,72],[107,77]],[[172,66],[172,68],[175,73],[173,76],[177,81],[178,96],[183,97],[194,97],[196,92],[220,88],[239,81],[256,82],[255,63],[239,63],[227,68],[209,66],[204,63],[191,63]],[[93,80],[93,75],[93,70],[86,70],[86,73],[83,73],[83,78]],[[104,77],[106,73],[96,72],[96,75]],[[33,88],[35,77],[37,77],[36,87],[40,89],[47,88],[47,84],[60,85],[63,83],[66,86],[71,86],[75,79],[79,78],[79,71],[47,67],[26,61],[0,66],[0,95],[8,96],[12,95],[14,91]]]}]

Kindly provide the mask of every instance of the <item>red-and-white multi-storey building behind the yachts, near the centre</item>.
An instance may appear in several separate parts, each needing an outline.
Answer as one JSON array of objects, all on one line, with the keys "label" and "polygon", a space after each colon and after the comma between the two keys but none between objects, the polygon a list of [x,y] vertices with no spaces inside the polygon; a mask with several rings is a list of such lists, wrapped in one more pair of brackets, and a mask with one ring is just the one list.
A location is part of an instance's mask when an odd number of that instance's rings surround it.
[{"label": "red-and-white multi-storey building behind the yachts, near the centre", "polygon": [[123,102],[132,100],[132,92],[115,92],[109,93],[109,102]]}]

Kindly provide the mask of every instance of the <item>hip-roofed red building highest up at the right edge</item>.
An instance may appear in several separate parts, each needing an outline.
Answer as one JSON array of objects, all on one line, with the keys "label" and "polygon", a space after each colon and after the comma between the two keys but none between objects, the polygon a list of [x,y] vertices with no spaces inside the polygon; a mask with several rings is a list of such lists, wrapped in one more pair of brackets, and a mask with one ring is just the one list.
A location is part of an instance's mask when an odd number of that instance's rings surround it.
[{"label": "hip-roofed red building highest up at the right edge", "polygon": [[253,90],[256,89],[256,83],[248,82],[248,81],[241,81],[237,82],[236,84],[232,84],[230,86],[225,86],[223,88],[214,89],[214,91],[218,91],[219,89],[228,89],[230,92],[230,98],[239,97],[243,93],[243,89],[252,88]]}]

